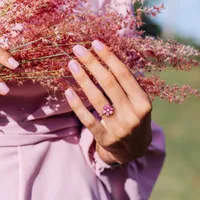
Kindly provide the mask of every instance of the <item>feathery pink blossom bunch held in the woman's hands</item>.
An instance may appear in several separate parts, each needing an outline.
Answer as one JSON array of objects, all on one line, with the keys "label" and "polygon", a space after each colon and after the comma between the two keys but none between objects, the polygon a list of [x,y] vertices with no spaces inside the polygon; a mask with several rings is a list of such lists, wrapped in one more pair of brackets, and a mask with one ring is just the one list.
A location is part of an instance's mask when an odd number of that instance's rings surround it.
[{"label": "feathery pink blossom bunch held in the woman's hands", "polygon": [[[189,71],[199,66],[196,58],[200,53],[175,41],[144,38],[142,32],[136,30],[136,26],[143,24],[142,12],[155,16],[163,4],[140,8],[135,16],[129,12],[122,16],[108,7],[105,11],[94,13],[90,6],[84,6],[87,1],[1,1],[0,45],[9,50],[21,65],[14,71],[1,68],[0,76],[7,82],[19,85],[31,79],[33,83],[39,82],[53,93],[73,86],[84,96],[81,88],[73,81],[67,63],[76,59],[72,52],[75,44],[82,44],[93,51],[91,42],[99,39],[126,64],[133,75],[141,72],[136,76],[137,81],[151,99],[158,96],[169,102],[181,103],[189,94],[200,97],[199,90],[187,84],[167,85],[158,74],[168,69]],[[129,23],[127,18],[130,19]],[[124,27],[127,30],[125,35],[117,34]],[[85,70],[94,83],[98,84],[90,72]],[[151,75],[140,75],[146,72]]]}]

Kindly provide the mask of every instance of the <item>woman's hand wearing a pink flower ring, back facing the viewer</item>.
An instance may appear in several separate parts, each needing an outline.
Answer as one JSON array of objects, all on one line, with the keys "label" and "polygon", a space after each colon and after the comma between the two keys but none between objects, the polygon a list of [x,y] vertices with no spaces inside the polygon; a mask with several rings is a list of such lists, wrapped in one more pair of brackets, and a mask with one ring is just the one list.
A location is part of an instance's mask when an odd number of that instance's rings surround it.
[{"label": "woman's hand wearing a pink flower ring, back facing the viewer", "polygon": [[[66,90],[65,94],[80,121],[94,135],[97,142],[96,150],[101,159],[108,164],[127,163],[143,156],[152,140],[152,105],[148,95],[127,67],[108,50],[106,45],[95,40],[92,46],[112,73],[83,46],[76,45],[73,51],[112,101],[115,108],[114,114],[109,117],[103,115],[99,122],[72,88]],[[109,104],[109,101],[77,61],[70,61],[69,68],[91,104],[101,114],[103,107]]]}]

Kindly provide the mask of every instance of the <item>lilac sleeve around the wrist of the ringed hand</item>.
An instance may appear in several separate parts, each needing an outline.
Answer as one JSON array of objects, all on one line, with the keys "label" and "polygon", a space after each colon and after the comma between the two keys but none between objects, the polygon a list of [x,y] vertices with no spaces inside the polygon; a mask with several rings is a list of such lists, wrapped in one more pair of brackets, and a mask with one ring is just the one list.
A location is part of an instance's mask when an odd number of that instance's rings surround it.
[{"label": "lilac sleeve around the wrist of the ringed hand", "polygon": [[[93,114],[99,119],[96,111]],[[112,191],[115,200],[146,200],[152,192],[165,159],[165,137],[163,130],[154,122],[151,127],[153,139],[146,155],[115,168],[100,159],[94,149],[92,133],[82,128],[80,146],[85,159],[107,189]]]}]

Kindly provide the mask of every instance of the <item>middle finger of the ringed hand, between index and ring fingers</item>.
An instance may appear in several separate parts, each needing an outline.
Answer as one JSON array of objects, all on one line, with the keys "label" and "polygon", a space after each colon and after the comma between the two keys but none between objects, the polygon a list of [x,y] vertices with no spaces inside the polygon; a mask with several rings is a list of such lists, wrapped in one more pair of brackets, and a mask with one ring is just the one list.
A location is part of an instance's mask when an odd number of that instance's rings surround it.
[{"label": "middle finger of the ringed hand, between index and ring fingers", "polygon": [[90,51],[81,45],[76,45],[73,52],[96,78],[115,107],[120,107],[122,103],[128,101],[125,92],[112,73],[105,69]]}]

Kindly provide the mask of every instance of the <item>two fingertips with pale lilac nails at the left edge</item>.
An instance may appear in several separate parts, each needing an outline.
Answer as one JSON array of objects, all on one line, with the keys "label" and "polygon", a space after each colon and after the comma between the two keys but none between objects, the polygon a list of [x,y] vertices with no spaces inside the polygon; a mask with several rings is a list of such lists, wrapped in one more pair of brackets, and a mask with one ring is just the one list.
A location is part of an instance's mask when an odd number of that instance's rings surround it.
[{"label": "two fingertips with pale lilac nails at the left edge", "polygon": [[[5,49],[0,47],[0,69],[3,67],[1,65],[10,69],[16,69],[19,63]],[[9,91],[10,89],[0,77],[0,95],[6,95]]]}]

